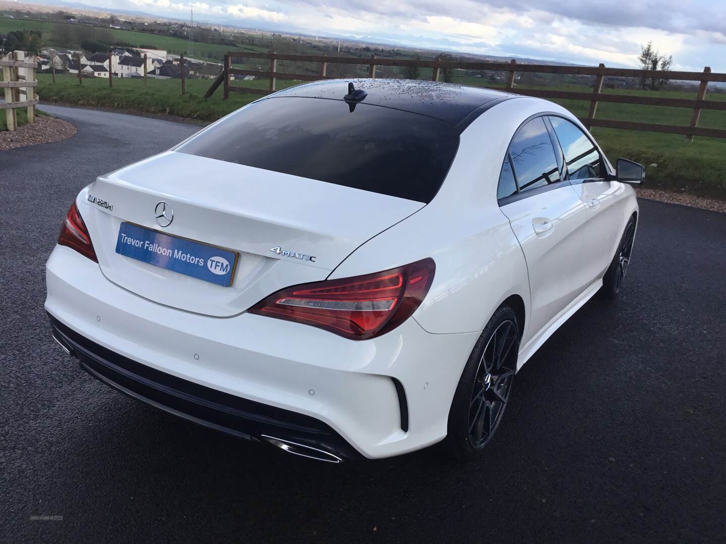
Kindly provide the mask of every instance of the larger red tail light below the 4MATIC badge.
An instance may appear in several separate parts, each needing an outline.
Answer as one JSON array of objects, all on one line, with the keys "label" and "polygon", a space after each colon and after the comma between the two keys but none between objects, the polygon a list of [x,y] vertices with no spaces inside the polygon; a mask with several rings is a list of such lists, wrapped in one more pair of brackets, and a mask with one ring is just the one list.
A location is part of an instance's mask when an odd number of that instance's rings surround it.
[{"label": "larger red tail light below the 4MATIC badge", "polygon": [[248,311],[364,340],[407,320],[428,293],[434,271],[436,265],[429,258],[366,276],[297,285]]}]

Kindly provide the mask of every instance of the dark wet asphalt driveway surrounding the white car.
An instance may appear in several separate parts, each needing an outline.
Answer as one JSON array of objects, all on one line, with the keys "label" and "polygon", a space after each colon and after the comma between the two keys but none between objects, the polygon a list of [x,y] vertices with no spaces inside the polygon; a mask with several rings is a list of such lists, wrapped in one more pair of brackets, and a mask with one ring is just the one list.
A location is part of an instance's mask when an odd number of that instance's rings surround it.
[{"label": "dark wet asphalt driveway surrounding the white car", "polygon": [[726,214],[641,201],[621,299],[524,366],[478,463],[330,466],[143,405],[55,344],[70,202],[198,127],[41,109],[78,134],[0,152],[0,541],[726,542]]}]

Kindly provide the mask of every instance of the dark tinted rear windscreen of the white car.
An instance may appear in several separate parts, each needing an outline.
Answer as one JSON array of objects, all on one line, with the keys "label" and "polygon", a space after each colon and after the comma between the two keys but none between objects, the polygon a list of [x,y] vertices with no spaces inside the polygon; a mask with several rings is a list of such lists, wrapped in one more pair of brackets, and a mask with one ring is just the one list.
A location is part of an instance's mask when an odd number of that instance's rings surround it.
[{"label": "dark tinted rear windscreen of the white car", "polygon": [[250,104],[176,151],[428,203],[458,145],[453,125],[425,115],[281,96]]}]

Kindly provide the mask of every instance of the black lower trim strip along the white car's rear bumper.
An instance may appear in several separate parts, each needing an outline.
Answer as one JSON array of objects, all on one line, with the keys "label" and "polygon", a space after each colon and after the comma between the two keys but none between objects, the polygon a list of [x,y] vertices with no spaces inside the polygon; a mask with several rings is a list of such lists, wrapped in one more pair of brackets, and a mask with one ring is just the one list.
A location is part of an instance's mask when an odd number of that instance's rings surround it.
[{"label": "black lower trim strip along the white car's rear bumper", "polygon": [[214,390],[119,355],[73,331],[48,314],[53,335],[70,348],[81,368],[131,397],[195,423],[260,440],[272,435],[346,459],[362,455],[329,425],[302,413]]}]

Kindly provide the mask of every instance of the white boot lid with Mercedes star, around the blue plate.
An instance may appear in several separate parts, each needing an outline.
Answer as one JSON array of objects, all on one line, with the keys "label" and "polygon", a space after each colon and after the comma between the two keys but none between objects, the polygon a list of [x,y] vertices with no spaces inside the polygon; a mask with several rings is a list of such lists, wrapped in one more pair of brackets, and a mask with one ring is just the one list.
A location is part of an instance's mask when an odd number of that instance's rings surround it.
[{"label": "white boot lid with Mercedes star, around the blue plate", "polygon": [[[154,302],[218,317],[241,313],[278,289],[325,279],[361,244],[424,206],[179,152],[101,176],[81,196],[89,204],[82,213],[89,216],[86,225],[107,279]],[[166,228],[155,218],[160,201],[174,212]],[[123,221],[239,252],[232,285],[116,253]]]}]

